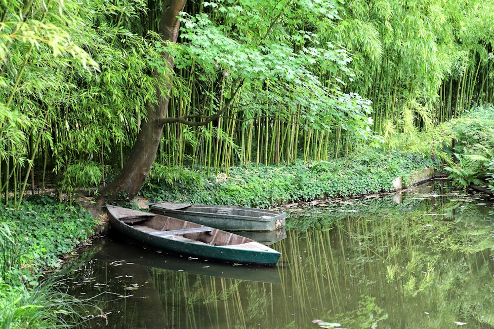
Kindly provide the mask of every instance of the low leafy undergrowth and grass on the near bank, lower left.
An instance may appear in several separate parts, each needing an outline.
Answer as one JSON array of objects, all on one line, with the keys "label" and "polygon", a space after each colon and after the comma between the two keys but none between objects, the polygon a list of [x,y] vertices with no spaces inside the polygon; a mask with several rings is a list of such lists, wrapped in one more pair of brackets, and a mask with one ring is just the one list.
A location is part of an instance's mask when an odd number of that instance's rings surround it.
[{"label": "low leafy undergrowth and grass on the near bank, lower left", "polygon": [[88,239],[95,219],[48,197],[25,200],[0,214],[0,328],[72,328],[71,297],[47,283],[41,270]]}]

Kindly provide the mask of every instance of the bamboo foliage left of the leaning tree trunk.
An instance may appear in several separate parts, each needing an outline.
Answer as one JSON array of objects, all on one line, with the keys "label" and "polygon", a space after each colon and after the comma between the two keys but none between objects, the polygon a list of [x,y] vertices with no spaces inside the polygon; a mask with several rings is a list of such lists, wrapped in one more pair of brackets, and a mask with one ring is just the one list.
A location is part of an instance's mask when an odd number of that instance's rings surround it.
[{"label": "bamboo foliage left of the leaning tree trunk", "polygon": [[118,163],[133,145],[145,104],[162,80],[148,74],[150,59],[159,57],[150,45],[157,36],[144,39],[123,26],[141,10],[135,1],[2,7],[0,190],[18,192],[16,207],[36,163],[53,168],[61,192],[70,193],[100,184],[105,161]]}]

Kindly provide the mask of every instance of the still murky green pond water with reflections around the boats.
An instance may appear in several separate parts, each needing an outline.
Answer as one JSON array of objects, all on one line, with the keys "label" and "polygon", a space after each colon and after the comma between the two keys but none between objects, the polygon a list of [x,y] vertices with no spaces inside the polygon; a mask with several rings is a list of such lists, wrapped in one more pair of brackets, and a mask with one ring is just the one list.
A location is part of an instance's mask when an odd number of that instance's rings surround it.
[{"label": "still murky green pond water with reflections around the boats", "polygon": [[64,289],[87,301],[83,328],[493,328],[494,212],[484,195],[436,182],[284,210],[274,268],[105,237],[65,264]]}]

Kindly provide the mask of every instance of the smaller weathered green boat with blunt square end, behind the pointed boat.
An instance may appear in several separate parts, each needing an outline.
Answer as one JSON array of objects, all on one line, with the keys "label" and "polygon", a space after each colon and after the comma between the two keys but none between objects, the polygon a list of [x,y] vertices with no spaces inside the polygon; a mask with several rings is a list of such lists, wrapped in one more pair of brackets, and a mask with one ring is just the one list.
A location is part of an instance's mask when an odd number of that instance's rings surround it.
[{"label": "smaller weathered green boat with blunt square end, behind the pointed boat", "polygon": [[153,213],[171,216],[232,232],[269,232],[285,227],[287,214],[275,210],[159,202]]}]

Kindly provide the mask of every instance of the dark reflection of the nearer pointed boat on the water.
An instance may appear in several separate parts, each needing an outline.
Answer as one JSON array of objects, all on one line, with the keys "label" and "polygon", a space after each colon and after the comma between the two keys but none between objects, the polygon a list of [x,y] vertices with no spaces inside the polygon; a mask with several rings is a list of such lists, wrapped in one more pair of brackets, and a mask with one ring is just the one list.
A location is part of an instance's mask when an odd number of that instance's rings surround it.
[{"label": "dark reflection of the nearer pointed boat on the water", "polygon": [[112,240],[99,239],[94,242],[94,244],[98,243],[105,245],[100,248],[94,258],[108,263],[120,262],[170,271],[183,271],[189,274],[209,277],[281,284],[280,275],[276,267],[257,265],[235,266],[185,256],[168,255],[148,249],[136,249],[119,237],[115,237]]}]

